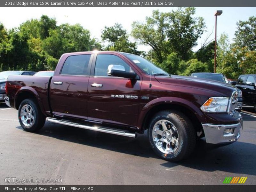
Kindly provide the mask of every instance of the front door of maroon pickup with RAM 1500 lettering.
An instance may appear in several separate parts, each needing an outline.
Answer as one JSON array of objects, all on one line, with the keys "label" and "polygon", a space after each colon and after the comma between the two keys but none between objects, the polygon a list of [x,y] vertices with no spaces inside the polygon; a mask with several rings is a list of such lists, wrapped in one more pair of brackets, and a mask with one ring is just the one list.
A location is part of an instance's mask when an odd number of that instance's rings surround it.
[{"label": "front door of maroon pickup with RAM 1500 lettering", "polygon": [[142,80],[108,76],[109,65],[122,65],[125,71],[138,74],[120,54],[95,55],[88,85],[88,121],[135,128]]}]

